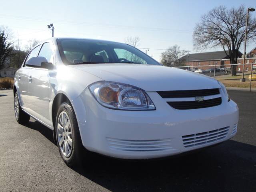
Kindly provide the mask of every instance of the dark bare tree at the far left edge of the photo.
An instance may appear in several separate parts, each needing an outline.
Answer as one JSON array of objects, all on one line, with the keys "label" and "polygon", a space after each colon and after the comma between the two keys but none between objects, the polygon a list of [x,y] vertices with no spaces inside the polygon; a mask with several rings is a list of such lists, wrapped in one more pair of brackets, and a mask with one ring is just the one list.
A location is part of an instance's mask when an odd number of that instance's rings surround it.
[{"label": "dark bare tree at the far left edge of the photo", "polygon": [[4,67],[6,59],[12,54],[13,42],[10,42],[10,36],[10,30],[0,26],[0,69]]}]

